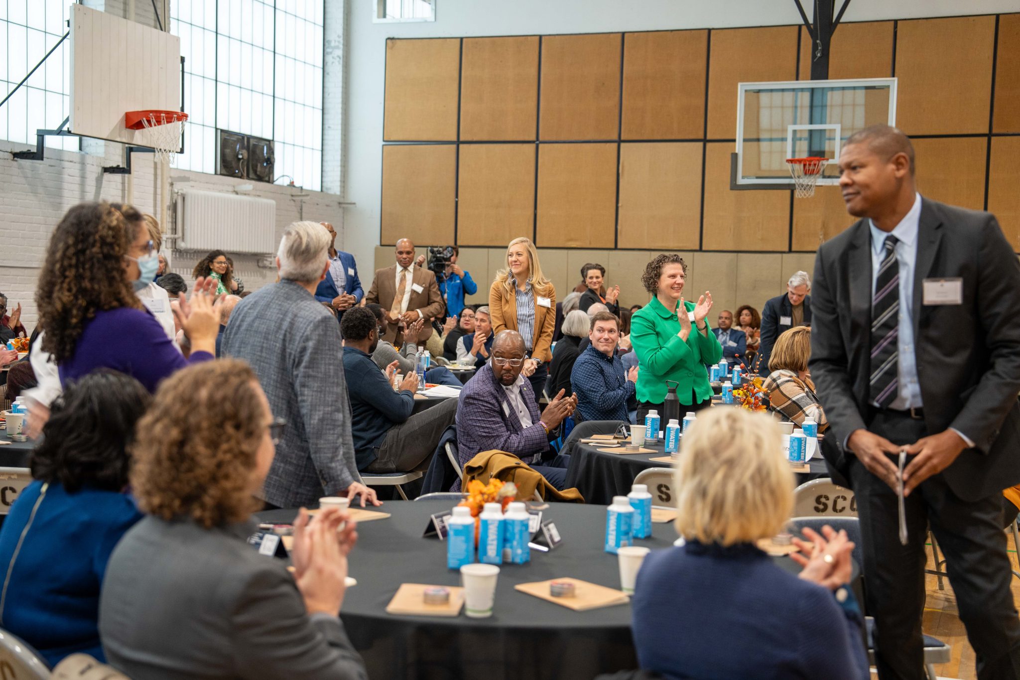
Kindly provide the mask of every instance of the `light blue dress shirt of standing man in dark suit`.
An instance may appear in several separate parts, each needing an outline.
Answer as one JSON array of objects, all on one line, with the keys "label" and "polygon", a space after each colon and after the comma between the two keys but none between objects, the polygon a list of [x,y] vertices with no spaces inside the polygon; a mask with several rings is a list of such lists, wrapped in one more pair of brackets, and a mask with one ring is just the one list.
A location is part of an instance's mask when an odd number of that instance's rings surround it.
[{"label": "light blue dress shirt of standing man in dark suit", "polygon": [[897,411],[920,409],[921,385],[917,381],[917,360],[914,356],[914,268],[917,264],[917,230],[921,218],[921,195],[917,194],[914,205],[904,215],[891,232],[882,231],[875,223],[871,224],[871,298],[875,297],[875,281],[878,279],[878,268],[882,263],[882,251],[885,248],[885,238],[891,233],[900,243],[896,245],[896,259],[900,265],[900,332],[898,335],[899,352],[899,388],[897,398],[888,408]]}]

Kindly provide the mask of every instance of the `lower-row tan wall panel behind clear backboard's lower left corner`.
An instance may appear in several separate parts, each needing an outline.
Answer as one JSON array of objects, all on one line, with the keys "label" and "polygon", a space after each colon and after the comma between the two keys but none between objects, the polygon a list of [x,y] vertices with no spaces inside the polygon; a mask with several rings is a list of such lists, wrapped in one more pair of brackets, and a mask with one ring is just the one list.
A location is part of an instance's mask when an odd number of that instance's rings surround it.
[{"label": "lower-row tan wall panel behind clear backboard's lower left corner", "polygon": [[730,191],[729,142],[710,143],[705,155],[702,248],[785,251],[789,246],[788,191]]}]

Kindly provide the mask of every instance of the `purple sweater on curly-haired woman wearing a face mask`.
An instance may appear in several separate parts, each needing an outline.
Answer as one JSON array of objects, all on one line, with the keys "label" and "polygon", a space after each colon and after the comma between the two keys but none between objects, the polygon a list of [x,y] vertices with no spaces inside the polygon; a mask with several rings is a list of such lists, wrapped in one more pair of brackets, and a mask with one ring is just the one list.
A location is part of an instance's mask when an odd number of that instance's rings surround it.
[{"label": "purple sweater on curly-haired woman wearing a face mask", "polygon": [[74,356],[59,366],[60,382],[67,384],[97,368],[112,368],[154,393],[159,381],[177,369],[212,358],[208,352],[193,352],[191,359],[185,359],[148,310],[120,307],[96,312],[85,324]]}]

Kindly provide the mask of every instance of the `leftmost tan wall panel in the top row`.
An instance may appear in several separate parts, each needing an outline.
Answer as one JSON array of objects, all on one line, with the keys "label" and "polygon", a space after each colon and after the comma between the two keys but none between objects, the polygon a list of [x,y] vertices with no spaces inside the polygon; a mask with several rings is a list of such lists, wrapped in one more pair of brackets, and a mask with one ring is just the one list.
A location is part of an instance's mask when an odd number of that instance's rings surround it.
[{"label": "leftmost tan wall panel in the top row", "polygon": [[460,39],[388,40],[382,139],[457,139]]}]

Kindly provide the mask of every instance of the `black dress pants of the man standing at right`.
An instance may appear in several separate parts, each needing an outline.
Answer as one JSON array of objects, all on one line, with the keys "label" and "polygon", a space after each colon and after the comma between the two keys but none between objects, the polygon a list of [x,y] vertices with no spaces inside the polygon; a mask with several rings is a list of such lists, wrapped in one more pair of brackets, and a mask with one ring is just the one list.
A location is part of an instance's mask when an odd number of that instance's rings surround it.
[{"label": "black dress pants of the man standing at right", "polygon": [[[896,444],[928,434],[923,420],[892,411],[877,411],[870,421],[870,431]],[[941,474],[933,475],[906,499],[908,541],[902,545],[896,491],[854,456],[850,481],[861,519],[865,597],[875,617],[880,680],[925,677],[921,614],[929,526],[946,557],[960,619],[976,655],[977,677],[1020,678],[1020,619],[1010,590],[1002,495],[964,501]]]}]

